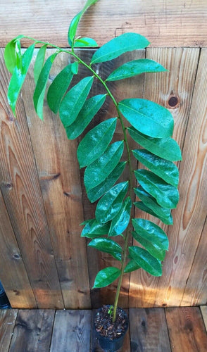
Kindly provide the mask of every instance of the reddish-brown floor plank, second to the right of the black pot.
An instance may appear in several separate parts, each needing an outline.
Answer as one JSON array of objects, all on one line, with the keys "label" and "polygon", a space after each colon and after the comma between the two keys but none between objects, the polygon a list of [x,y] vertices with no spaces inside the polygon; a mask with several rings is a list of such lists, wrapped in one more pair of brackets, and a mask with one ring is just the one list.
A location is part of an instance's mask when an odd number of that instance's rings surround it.
[{"label": "reddish-brown floor plank, second to the right of the black pot", "polygon": [[165,308],[165,313],[172,351],[207,351],[207,334],[199,307]]}]

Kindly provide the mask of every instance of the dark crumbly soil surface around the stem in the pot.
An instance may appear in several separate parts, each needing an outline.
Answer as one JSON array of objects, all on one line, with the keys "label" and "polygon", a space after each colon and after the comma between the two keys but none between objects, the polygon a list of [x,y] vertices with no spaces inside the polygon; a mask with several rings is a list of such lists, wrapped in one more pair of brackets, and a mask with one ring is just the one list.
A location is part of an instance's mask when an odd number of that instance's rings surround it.
[{"label": "dark crumbly soil surface around the stem in the pot", "polygon": [[121,337],[128,327],[128,318],[125,311],[117,308],[115,322],[112,321],[113,314],[108,314],[111,306],[103,306],[98,310],[94,319],[96,332],[101,336],[108,337],[108,339],[117,339]]}]

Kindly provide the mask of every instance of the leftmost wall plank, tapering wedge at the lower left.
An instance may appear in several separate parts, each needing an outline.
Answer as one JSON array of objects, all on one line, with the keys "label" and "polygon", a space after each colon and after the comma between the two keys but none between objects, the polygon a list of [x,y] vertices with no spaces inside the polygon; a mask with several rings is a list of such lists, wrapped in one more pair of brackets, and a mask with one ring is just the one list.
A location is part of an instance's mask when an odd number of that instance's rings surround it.
[{"label": "leftmost wall plank, tapering wedge at the lower left", "polygon": [[1,282],[13,308],[34,308],[37,306],[27,270],[20,255],[4,199],[0,191],[0,267]]}]

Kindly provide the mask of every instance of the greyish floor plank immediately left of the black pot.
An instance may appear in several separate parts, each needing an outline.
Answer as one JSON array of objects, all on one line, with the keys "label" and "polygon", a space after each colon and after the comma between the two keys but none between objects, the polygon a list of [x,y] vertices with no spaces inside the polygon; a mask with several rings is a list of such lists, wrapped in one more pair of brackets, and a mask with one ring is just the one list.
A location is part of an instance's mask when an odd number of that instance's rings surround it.
[{"label": "greyish floor plank immediately left of the black pot", "polygon": [[89,352],[91,310],[57,310],[51,352]]}]

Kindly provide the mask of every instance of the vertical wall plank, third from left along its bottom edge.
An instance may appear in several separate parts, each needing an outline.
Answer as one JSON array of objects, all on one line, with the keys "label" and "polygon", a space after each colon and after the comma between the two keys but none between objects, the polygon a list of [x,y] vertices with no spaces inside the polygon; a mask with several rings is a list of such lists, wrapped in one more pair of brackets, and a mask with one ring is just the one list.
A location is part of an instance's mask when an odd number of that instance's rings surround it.
[{"label": "vertical wall plank, third from left along its bottom edge", "polygon": [[[53,52],[49,49],[47,56]],[[90,308],[87,251],[85,239],[80,238],[83,210],[77,142],[68,141],[59,116],[52,114],[48,107],[44,108],[44,122],[37,117],[32,102],[34,61],[35,57],[23,88],[23,102],[63,301],[65,308]],[[56,58],[50,80],[54,80],[68,61],[67,54]]]}]

